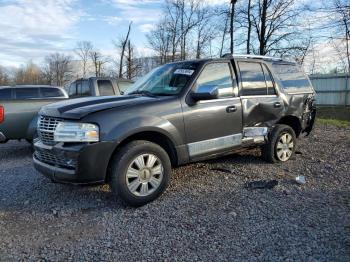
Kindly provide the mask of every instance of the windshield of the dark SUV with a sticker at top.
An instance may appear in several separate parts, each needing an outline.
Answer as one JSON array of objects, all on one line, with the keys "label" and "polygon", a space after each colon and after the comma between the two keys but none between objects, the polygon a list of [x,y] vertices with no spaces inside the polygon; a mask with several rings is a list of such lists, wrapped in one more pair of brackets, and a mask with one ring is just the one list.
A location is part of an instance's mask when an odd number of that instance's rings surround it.
[{"label": "windshield of the dark SUV with a sticker at top", "polygon": [[127,94],[177,95],[187,85],[198,63],[184,62],[157,67],[137,80]]}]

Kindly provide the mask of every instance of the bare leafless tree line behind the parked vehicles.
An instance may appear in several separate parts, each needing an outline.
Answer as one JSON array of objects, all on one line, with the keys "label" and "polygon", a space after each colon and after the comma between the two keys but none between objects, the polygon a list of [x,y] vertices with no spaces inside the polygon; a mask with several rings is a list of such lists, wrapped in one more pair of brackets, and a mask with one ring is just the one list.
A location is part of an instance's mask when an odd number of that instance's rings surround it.
[{"label": "bare leafless tree line behind the parked vehicles", "polygon": [[[63,86],[87,76],[134,79],[155,66],[172,61],[247,53],[291,57],[309,73],[321,72],[317,49],[326,42],[336,50],[336,72],[350,72],[350,5],[346,0],[321,0],[322,5],[295,0],[166,0],[162,16],[147,33],[152,57],[137,54],[130,22],[113,41],[115,55],[106,56],[89,41],[77,42],[72,54],[53,53],[40,65],[29,62],[11,70],[0,66],[0,85]],[[76,59],[77,58],[77,59]]]}]

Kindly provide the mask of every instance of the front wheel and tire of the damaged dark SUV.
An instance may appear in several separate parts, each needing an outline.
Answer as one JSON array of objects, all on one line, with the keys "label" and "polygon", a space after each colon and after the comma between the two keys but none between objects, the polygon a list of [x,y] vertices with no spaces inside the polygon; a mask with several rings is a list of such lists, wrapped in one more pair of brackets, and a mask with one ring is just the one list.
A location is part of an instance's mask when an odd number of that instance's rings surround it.
[{"label": "front wheel and tire of the damaged dark SUV", "polygon": [[171,162],[157,144],[137,140],[123,146],[111,159],[109,185],[129,206],[143,206],[161,195],[169,185]]}]

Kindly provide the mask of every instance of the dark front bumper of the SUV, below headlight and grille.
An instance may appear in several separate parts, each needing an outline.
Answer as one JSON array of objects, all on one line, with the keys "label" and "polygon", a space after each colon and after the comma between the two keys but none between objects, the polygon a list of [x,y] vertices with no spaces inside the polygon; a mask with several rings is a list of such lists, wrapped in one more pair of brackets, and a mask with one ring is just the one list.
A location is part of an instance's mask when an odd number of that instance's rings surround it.
[{"label": "dark front bumper of the SUV, below headlight and grille", "polygon": [[103,183],[115,144],[58,143],[54,146],[34,144],[34,167],[55,182],[72,184]]}]

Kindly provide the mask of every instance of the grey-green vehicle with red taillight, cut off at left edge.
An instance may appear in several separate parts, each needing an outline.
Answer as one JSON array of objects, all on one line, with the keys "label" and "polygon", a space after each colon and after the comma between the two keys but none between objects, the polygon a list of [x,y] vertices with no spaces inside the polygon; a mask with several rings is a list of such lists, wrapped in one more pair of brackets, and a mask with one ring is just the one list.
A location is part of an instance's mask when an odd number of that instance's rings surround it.
[{"label": "grey-green vehicle with red taillight, cut off at left edge", "polygon": [[37,114],[43,105],[67,99],[63,88],[44,85],[0,87],[0,143],[10,139],[32,141]]}]

